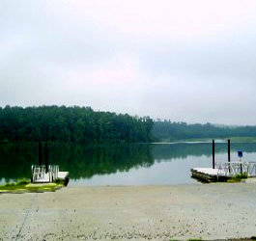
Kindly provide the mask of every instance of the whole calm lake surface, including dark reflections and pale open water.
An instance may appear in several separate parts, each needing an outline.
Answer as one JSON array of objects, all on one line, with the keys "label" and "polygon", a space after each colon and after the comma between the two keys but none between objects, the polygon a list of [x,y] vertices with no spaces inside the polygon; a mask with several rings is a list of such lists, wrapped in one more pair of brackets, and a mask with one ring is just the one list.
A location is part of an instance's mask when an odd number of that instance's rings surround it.
[{"label": "whole calm lake surface, including dark reflections and pale open water", "polygon": [[[231,160],[256,161],[256,143],[231,144]],[[44,150],[43,150],[44,154]],[[109,145],[48,144],[49,164],[70,172],[69,185],[146,185],[196,183],[190,169],[212,167],[212,143]],[[227,144],[215,144],[217,163],[227,161]],[[0,144],[0,183],[30,177],[38,164],[37,144]]]}]

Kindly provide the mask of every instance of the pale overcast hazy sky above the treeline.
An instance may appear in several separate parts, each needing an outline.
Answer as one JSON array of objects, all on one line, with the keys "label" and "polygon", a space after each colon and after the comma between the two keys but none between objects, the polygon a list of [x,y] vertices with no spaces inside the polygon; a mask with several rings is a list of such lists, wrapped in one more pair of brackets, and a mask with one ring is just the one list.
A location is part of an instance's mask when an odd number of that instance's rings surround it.
[{"label": "pale overcast hazy sky above the treeline", "polygon": [[256,124],[256,1],[1,0],[7,104]]}]

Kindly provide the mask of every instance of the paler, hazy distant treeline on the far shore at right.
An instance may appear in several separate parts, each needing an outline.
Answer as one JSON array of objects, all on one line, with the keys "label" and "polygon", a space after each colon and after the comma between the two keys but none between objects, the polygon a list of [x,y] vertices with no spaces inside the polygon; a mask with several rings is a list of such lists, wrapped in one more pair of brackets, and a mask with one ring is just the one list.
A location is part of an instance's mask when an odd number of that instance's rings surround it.
[{"label": "paler, hazy distant treeline on the far shore at right", "polygon": [[200,138],[256,137],[256,126],[215,126],[185,122],[155,121],[152,134],[158,141],[177,141]]}]

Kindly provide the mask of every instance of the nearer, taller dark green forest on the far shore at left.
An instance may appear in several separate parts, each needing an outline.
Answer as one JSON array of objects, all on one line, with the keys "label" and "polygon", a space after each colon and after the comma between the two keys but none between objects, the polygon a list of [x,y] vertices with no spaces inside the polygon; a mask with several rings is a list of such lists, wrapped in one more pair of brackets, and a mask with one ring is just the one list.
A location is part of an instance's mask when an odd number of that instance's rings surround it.
[{"label": "nearer, taller dark green forest on the far shore at left", "polygon": [[145,143],[153,120],[90,107],[0,107],[0,141],[60,143]]}]

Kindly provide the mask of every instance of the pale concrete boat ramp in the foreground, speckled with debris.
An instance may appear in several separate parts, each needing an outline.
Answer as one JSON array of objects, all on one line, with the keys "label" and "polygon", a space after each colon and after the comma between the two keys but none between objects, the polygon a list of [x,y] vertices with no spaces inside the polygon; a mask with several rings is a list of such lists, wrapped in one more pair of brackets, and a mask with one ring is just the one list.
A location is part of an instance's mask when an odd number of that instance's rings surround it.
[{"label": "pale concrete boat ramp in the foreground, speckled with debris", "polygon": [[256,184],[67,187],[0,195],[0,240],[256,235]]}]

